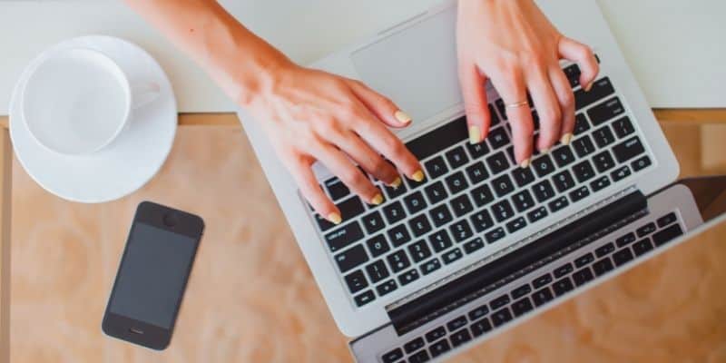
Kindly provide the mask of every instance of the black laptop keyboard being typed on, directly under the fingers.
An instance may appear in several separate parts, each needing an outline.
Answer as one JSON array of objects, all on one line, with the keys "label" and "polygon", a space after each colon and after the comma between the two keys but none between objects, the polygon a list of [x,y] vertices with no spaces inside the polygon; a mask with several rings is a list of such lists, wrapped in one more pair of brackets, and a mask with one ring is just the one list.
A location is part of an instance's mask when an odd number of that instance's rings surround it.
[{"label": "black laptop keyboard being typed on, directly under the fingers", "polygon": [[[577,65],[566,67],[565,74],[575,86],[573,141],[535,154],[528,168],[515,162],[505,106],[497,100],[489,105],[492,125],[485,142],[468,142],[464,117],[407,142],[427,179],[406,180],[397,189],[374,181],[385,191],[378,206],[361,201],[338,178],[324,182],[343,223],[334,226],[311,213],[355,306],[483,252],[651,165],[611,80],[600,78],[585,93],[577,86]],[[534,110],[533,116],[536,134]]]}]

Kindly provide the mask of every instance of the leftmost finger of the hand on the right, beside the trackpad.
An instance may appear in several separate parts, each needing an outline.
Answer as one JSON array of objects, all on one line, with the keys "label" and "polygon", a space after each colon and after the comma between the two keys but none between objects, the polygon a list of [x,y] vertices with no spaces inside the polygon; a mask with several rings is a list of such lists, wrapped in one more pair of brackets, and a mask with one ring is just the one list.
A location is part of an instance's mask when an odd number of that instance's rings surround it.
[{"label": "leftmost finger of the hand on the right, beside the trackpad", "polygon": [[459,83],[464,97],[469,142],[482,142],[489,133],[489,108],[486,101],[486,77],[474,64],[459,65]]}]

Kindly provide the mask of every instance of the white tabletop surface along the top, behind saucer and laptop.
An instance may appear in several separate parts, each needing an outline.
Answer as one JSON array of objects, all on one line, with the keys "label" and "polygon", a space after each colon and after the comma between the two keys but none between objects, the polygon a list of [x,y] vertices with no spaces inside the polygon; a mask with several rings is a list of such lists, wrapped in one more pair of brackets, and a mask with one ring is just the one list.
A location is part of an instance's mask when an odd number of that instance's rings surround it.
[{"label": "white tabletop surface along the top, behind saucer and laptop", "polygon": [[[578,0],[559,0],[578,1]],[[437,0],[222,0],[251,30],[308,64]],[[726,2],[598,0],[652,107],[726,107]],[[180,112],[234,105],[186,56],[120,0],[0,0],[0,114],[35,54],[82,34],[142,45],[170,75]]]}]

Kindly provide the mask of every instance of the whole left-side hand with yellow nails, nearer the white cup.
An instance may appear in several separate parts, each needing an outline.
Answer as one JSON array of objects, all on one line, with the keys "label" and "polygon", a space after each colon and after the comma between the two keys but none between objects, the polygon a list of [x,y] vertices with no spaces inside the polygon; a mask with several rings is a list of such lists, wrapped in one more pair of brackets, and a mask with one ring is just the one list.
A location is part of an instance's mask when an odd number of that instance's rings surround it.
[{"label": "whole left-side hand with yellow nails, nearer the white cup", "polygon": [[415,181],[424,179],[417,158],[386,127],[411,123],[388,98],[359,81],[291,62],[270,69],[264,78],[242,107],[262,125],[299,190],[321,216],[341,221],[338,207],[312,172],[315,162],[370,204],[381,203],[383,194],[356,163],[392,187],[401,184],[398,171]]}]

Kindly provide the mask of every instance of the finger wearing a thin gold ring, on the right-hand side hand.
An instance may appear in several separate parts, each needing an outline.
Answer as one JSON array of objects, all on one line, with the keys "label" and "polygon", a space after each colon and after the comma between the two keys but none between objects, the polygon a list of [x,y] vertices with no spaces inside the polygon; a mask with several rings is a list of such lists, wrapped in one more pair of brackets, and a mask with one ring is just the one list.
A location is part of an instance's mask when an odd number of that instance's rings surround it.
[{"label": "finger wearing a thin gold ring, on the right-hand side hand", "polygon": [[[497,92],[506,105],[514,105],[527,101],[527,93],[523,76],[518,70],[510,70],[489,74]],[[506,116],[512,127],[512,142],[515,144],[516,162],[523,168],[529,166],[533,152],[532,112],[529,104],[516,107],[506,106]]]}]

